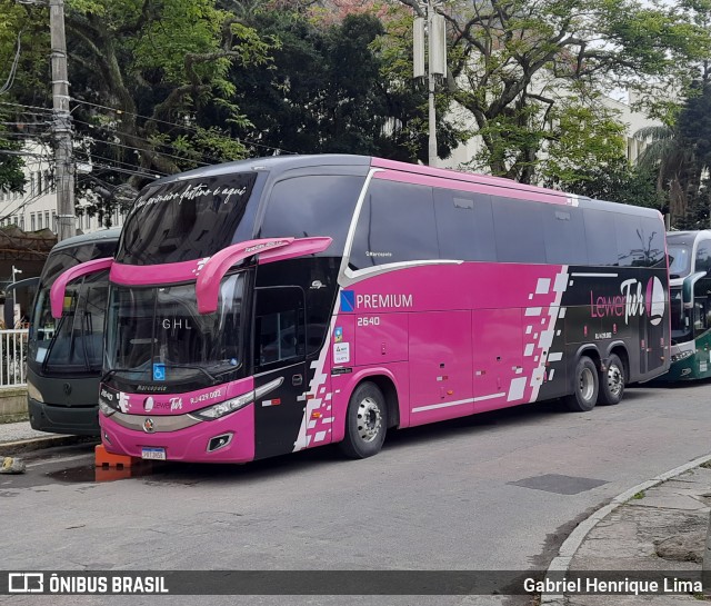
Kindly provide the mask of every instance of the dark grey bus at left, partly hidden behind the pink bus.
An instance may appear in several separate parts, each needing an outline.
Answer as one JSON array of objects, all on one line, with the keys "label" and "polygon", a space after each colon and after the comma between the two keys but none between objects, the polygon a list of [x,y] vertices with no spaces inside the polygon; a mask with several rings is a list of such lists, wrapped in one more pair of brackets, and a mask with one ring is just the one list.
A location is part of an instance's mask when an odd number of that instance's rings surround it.
[{"label": "dark grey bus at left, partly hidden behind the pink bus", "polygon": [[[62,314],[53,318],[50,289],[68,269],[112,257],[119,229],[68,238],[50,251],[29,318],[27,387],[30,425],[40,431],[99,435],[99,378],[109,272],[64,284]],[[28,285],[23,280],[18,285]]]}]

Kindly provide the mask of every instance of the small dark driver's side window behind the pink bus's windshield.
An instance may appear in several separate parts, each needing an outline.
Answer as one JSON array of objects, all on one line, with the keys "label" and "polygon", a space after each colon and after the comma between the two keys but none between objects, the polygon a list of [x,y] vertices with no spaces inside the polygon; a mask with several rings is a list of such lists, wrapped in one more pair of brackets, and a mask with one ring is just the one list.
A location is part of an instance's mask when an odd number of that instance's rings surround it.
[{"label": "small dark driver's side window behind the pink bus's windshield", "polygon": [[300,288],[257,289],[254,366],[303,358],[303,291]]}]

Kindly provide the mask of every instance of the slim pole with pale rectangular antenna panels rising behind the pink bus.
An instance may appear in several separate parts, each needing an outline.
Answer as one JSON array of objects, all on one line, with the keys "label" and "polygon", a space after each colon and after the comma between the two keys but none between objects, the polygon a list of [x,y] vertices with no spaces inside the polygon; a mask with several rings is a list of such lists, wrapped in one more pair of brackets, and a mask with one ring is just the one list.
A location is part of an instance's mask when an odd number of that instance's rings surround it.
[{"label": "slim pole with pale rectangular antenna panels rising behind the pink bus", "polygon": [[433,0],[423,6],[425,18],[415,17],[412,30],[412,59],[414,78],[424,77],[424,39],[428,39],[428,165],[437,166],[437,113],[434,110],[434,85],[437,77],[447,76],[447,24],[444,18],[434,10]]}]

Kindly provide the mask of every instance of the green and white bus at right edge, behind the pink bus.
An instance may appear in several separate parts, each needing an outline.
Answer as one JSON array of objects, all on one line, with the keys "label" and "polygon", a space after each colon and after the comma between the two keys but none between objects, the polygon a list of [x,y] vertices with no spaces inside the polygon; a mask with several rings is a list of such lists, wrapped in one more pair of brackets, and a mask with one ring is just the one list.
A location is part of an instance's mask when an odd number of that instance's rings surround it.
[{"label": "green and white bus at right edge, behind the pink bus", "polygon": [[711,377],[711,230],[669,232],[667,246],[671,367],[661,379]]}]

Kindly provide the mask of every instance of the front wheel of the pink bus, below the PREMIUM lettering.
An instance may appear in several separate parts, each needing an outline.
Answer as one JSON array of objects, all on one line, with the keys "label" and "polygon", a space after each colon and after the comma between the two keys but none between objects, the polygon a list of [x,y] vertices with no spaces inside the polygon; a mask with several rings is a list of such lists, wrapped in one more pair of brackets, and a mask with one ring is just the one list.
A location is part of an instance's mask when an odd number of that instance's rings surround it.
[{"label": "front wheel of the pink bus, below the PREMIUM lettering", "polygon": [[375,384],[361,383],[348,403],[342,453],[353,459],[372,457],[380,453],[387,430],[388,408],[382,391]]}]

